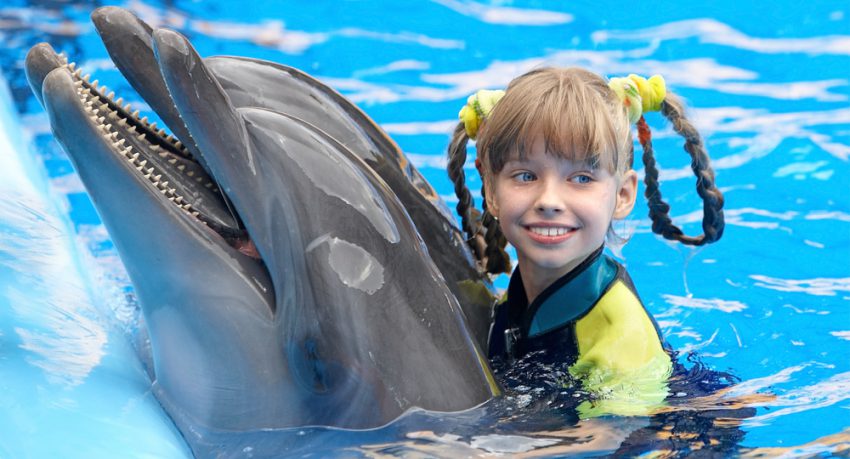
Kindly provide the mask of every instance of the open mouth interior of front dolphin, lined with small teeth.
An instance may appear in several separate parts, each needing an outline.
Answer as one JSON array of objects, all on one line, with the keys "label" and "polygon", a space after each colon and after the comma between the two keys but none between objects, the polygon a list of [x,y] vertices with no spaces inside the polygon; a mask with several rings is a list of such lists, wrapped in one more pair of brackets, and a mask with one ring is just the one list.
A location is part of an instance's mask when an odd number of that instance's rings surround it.
[{"label": "open mouth interior of front dolphin, lined with small teeth", "polygon": [[92,81],[64,54],[55,54],[49,46],[42,51],[48,53],[44,57],[60,64],[57,68],[67,69],[72,75],[80,104],[97,132],[111,145],[113,154],[126,160],[164,199],[221,236],[228,245],[259,258],[215,178],[180,139],[142,117],[139,110],[133,110],[121,97],[116,98],[105,85]]}]

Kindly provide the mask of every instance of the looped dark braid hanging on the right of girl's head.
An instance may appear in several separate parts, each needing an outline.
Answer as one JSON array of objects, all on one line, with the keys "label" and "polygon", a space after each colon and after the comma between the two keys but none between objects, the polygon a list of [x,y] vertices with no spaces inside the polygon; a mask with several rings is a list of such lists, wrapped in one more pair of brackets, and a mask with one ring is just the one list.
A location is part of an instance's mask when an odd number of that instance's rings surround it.
[{"label": "looped dark braid hanging on the right of girl's head", "polygon": [[714,183],[714,170],[709,164],[708,154],[702,138],[696,128],[685,118],[682,103],[675,96],[668,95],[661,103],[661,114],[673,126],[673,130],[685,138],[685,151],[691,156],[691,169],[697,177],[697,193],[703,200],[702,230],[699,236],[685,235],[670,219],[670,205],[661,197],[652,149],[652,133],[646,121],[641,117],[637,122],[638,139],[643,147],[645,166],[644,183],[646,198],[649,201],[649,216],[652,219],[652,231],[665,239],[679,241],[687,245],[704,245],[715,242],[723,235],[723,194]]}]

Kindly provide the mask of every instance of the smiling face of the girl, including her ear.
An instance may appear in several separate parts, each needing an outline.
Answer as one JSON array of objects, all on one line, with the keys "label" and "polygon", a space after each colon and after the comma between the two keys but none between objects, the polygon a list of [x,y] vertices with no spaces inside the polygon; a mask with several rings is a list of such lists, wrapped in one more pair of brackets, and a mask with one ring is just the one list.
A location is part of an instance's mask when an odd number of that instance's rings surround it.
[{"label": "smiling face of the girl, including her ear", "polygon": [[618,178],[547,154],[542,137],[492,182],[487,206],[516,248],[523,277],[547,284],[602,245],[611,220],[631,212],[637,187],[634,171]]}]

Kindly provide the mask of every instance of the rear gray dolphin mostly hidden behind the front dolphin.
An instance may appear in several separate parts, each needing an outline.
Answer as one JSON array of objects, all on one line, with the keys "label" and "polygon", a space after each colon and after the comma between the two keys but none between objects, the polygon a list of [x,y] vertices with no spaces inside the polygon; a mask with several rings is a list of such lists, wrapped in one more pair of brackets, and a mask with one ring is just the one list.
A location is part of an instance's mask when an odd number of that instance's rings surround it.
[{"label": "rear gray dolphin mostly hidden behind the front dolphin", "polygon": [[[164,89],[154,56],[153,29],[117,7],[95,10],[92,21],[121,73],[197,156],[196,142]],[[475,268],[451,212],[395,142],[350,101],[297,69],[238,57],[211,57],[204,64],[233,107],[265,108],[313,124],[349,148],[389,185],[452,293],[461,300],[473,336],[485,347],[495,299],[489,280]]]}]

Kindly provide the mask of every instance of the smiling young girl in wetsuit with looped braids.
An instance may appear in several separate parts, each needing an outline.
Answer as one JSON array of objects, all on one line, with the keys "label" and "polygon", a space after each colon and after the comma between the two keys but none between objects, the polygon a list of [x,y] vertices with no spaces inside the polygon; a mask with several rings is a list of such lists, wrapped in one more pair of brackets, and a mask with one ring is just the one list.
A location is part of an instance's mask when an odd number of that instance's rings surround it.
[{"label": "smiling young girl in wetsuit with looped braids", "polygon": [[[704,201],[703,235],[684,235],[661,199],[642,116],[653,110],[685,138]],[[670,357],[625,269],[603,247],[606,236],[616,238],[612,220],[625,218],[635,204],[634,122],[653,231],[692,245],[720,238],[723,196],[681,103],[666,94],[659,76],[605,81],[581,69],[543,68],[516,78],[504,92],[479,91],[460,117],[449,146],[449,175],[463,229],[490,273],[509,271],[506,241],[517,253],[506,299],[494,312],[490,357],[545,351],[535,356],[570,365],[570,374],[597,394],[649,391],[642,397],[649,405],[663,401]],[[464,183],[469,139],[476,140],[484,184],[481,218]],[[647,409],[646,403],[621,401],[596,405],[595,414]]]}]

